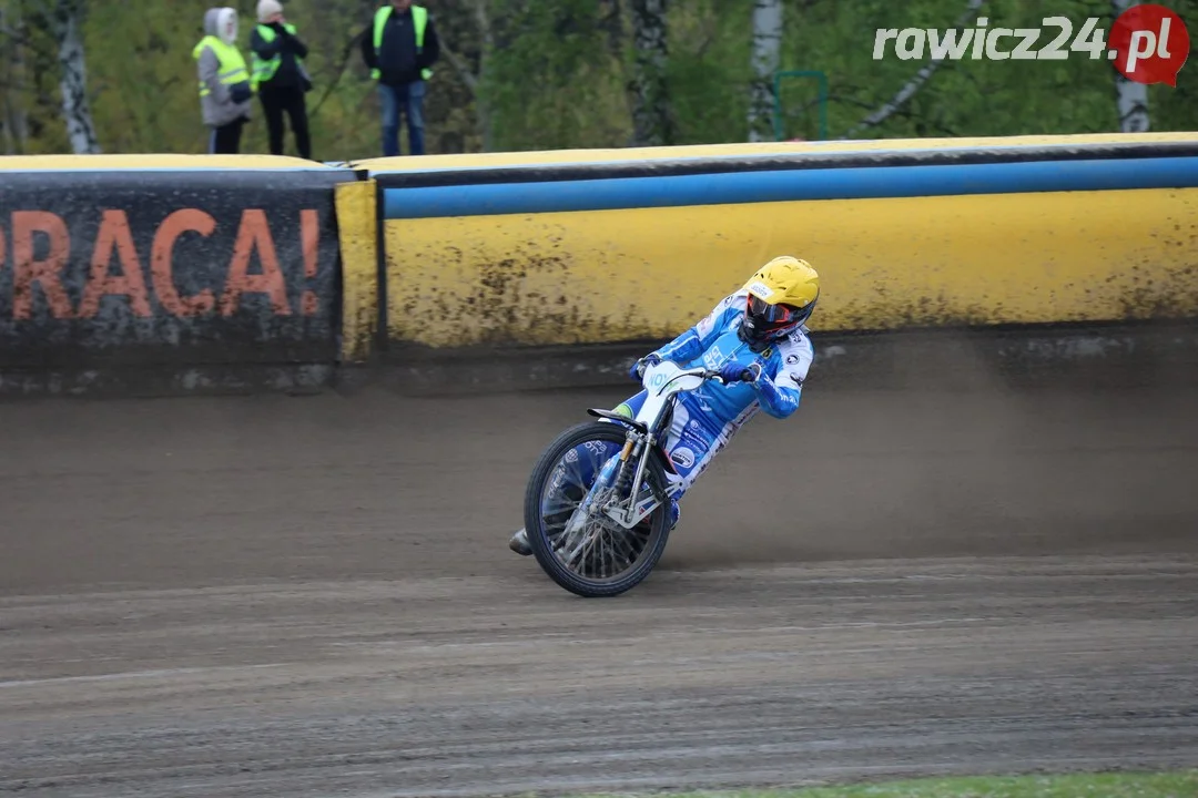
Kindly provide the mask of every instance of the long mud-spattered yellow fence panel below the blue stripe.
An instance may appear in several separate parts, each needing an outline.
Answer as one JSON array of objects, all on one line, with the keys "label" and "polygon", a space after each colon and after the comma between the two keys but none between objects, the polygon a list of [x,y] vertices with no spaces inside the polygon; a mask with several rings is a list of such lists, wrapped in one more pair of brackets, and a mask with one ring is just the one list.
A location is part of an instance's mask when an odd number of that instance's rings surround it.
[{"label": "long mud-spattered yellow fence panel below the blue stripe", "polygon": [[659,339],[770,257],[822,275],[815,330],[1198,311],[1198,189],[392,219],[388,334],[429,347]]}]

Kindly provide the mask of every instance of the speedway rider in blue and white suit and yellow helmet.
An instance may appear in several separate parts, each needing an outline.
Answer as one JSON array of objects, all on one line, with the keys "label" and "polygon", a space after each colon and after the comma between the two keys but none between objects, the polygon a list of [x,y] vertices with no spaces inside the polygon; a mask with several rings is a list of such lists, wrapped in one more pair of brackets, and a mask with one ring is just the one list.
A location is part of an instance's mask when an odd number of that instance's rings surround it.
[{"label": "speedway rider in blue and white suit and yellow helmet", "polygon": [[[736,293],[670,343],[637,360],[629,376],[640,380],[648,365],[672,360],[684,368],[719,370],[725,384],[707,382],[678,396],[665,450],[678,471],[670,492],[671,529],[678,501],[700,474],[760,408],[775,419],[799,407],[803,382],[815,357],[806,321],[819,298],[819,275],[810,263],[783,255],[758,269]],[[740,382],[749,370],[752,378]],[[616,408],[635,416],[642,389]],[[524,529],[508,542],[530,555]]]}]

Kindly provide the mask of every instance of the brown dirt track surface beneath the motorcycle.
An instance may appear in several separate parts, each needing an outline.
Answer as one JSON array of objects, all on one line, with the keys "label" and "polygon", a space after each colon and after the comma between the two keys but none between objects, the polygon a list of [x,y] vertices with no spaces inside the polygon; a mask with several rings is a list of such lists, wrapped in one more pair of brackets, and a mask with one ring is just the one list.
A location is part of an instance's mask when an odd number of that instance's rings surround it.
[{"label": "brown dirt track surface beneath the motorcycle", "polygon": [[588,602],[506,540],[621,397],[0,406],[0,793],[1198,766],[1198,392],[812,389]]}]

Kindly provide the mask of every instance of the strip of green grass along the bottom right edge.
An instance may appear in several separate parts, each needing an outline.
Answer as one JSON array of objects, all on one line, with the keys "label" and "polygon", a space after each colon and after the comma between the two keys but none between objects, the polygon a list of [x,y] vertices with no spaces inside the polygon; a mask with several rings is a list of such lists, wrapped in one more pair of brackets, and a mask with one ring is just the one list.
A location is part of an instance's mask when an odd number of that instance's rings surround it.
[{"label": "strip of green grass along the bottom right edge", "polygon": [[1198,798],[1198,770],[913,779],[801,790],[670,793],[670,798]]}]

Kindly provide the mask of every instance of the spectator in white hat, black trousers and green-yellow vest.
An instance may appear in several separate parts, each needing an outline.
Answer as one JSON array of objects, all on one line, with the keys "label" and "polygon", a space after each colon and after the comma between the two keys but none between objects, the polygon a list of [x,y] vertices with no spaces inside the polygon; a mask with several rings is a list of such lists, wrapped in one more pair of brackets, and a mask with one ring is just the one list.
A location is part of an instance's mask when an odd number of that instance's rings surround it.
[{"label": "spectator in white hat, black trousers and green-yellow vest", "polygon": [[266,116],[271,153],[283,154],[283,114],[291,118],[291,133],[301,158],[311,158],[308,108],[304,93],[311,80],[303,67],[308,45],[296,36],[296,26],[283,18],[278,0],[259,0],[258,26],[250,36],[254,84]]}]

